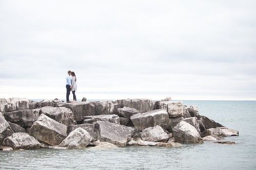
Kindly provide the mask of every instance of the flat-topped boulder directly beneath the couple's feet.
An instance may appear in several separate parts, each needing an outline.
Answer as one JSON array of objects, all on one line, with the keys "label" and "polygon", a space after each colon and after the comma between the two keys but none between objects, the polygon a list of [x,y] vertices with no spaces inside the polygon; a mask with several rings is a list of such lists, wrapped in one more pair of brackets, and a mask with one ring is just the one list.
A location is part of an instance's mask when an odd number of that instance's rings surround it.
[{"label": "flat-topped boulder directly beneath the couple's feet", "polygon": [[82,122],[85,116],[95,115],[95,107],[90,102],[57,103],[57,106],[70,109],[76,122]]}]

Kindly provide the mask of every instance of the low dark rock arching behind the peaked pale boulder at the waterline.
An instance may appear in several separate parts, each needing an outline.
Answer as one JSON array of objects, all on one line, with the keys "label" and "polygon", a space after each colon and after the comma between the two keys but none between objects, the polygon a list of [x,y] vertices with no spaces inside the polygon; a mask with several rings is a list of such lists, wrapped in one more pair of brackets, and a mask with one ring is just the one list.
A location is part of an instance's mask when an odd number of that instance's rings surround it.
[{"label": "low dark rock arching behind the peaked pale boulder at the waterline", "polygon": [[90,135],[92,136],[92,141],[97,140],[98,135],[97,133],[94,131],[94,124],[80,124],[80,125],[70,125],[67,128],[67,134],[69,134],[70,132],[72,132],[73,130],[77,129],[77,128],[82,128],[84,130],[86,130],[87,132],[90,133]]}]

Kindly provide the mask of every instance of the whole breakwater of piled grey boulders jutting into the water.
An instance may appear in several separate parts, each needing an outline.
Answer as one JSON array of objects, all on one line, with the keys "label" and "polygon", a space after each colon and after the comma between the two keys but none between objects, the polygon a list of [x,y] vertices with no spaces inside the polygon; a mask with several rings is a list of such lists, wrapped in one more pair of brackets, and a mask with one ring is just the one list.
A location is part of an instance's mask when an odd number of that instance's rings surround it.
[{"label": "whole breakwater of piled grey boulders jutting into the water", "polygon": [[0,149],[173,148],[239,135],[171,98],[83,101],[0,99]]}]

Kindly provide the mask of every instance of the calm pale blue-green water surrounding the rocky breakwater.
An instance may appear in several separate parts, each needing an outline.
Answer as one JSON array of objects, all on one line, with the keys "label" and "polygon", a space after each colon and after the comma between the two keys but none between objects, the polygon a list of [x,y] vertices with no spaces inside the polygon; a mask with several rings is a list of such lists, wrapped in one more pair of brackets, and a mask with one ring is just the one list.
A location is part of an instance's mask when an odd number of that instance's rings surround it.
[{"label": "calm pale blue-green water surrounding the rocky breakwater", "polygon": [[201,115],[239,130],[238,137],[181,148],[26,150],[0,152],[1,169],[256,169],[256,101],[183,101]]}]

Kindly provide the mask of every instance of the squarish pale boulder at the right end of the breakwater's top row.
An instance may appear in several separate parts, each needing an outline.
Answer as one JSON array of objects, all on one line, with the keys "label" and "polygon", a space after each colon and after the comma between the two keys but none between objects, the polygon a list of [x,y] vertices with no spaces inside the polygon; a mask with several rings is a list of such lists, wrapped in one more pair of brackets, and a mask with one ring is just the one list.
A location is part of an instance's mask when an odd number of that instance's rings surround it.
[{"label": "squarish pale boulder at the right end of the breakwater's top row", "polygon": [[167,112],[169,117],[182,117],[183,116],[183,104],[182,102],[171,102],[167,105]]}]

